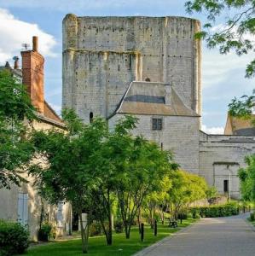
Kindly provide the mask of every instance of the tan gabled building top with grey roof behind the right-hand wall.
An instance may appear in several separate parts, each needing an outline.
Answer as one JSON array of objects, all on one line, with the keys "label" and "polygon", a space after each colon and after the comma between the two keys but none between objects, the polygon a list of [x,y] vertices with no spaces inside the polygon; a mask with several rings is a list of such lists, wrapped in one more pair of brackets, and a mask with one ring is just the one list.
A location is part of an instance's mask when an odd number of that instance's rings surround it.
[{"label": "tan gabled building top with grey roof behind the right-hand wall", "polygon": [[255,114],[252,114],[251,119],[243,119],[228,114],[224,134],[255,136],[255,127],[252,124],[252,120],[254,119]]}]

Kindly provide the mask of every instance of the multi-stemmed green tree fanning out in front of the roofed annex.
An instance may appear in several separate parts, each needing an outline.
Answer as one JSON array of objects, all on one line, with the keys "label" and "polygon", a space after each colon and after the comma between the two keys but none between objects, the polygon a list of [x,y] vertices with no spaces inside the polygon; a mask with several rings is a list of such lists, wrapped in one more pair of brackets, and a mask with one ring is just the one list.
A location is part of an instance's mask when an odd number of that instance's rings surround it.
[{"label": "multi-stemmed green tree fanning out in front of the roofed annex", "polygon": [[173,166],[171,154],[159,150],[143,137],[132,137],[137,119],[126,116],[115,126],[110,138],[109,158],[116,173],[119,209],[130,238],[130,227],[145,196],[159,187],[159,181]]}]

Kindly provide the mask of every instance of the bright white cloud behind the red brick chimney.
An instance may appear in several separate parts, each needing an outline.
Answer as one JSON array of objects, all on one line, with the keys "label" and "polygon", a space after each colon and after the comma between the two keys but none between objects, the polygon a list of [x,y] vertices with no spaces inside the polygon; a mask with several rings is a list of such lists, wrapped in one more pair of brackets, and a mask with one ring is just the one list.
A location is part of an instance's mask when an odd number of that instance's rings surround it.
[{"label": "bright white cloud behind the red brick chimney", "polygon": [[55,56],[55,38],[43,32],[37,24],[18,20],[7,9],[0,9],[0,63],[20,53],[21,44],[32,45],[32,36],[39,38],[39,51],[44,56]]}]

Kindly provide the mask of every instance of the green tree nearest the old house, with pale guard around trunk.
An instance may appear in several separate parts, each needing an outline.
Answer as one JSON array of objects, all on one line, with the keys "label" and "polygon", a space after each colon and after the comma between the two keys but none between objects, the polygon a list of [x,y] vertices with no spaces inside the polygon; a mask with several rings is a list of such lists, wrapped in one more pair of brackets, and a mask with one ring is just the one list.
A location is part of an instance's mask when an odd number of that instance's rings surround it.
[{"label": "green tree nearest the old house, with pale guard around trunk", "polygon": [[[47,201],[53,204],[70,202],[78,212],[82,251],[88,252],[89,222],[84,226],[82,212],[91,212],[92,191],[101,183],[97,172],[97,152],[107,134],[106,121],[94,119],[85,125],[72,110],[64,110],[67,131],[35,131],[33,143],[37,153],[48,163],[32,166],[31,174]],[[90,216],[90,215],[89,215]]]}]

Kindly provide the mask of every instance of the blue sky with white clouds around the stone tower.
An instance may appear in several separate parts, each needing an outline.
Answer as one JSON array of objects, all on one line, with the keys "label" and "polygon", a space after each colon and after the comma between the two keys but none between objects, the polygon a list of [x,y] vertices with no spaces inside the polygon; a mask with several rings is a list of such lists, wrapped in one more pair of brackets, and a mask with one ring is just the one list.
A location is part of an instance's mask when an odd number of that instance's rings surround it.
[{"label": "blue sky with white clouds around the stone tower", "polygon": [[[45,57],[45,98],[61,109],[61,22],[65,15],[188,16],[185,0],[0,0],[0,64],[20,52],[22,43],[39,36]],[[194,18],[204,20],[203,15]],[[219,20],[216,24],[223,22]],[[246,63],[254,54],[219,55],[203,47],[203,129],[222,132],[228,103],[234,96],[251,94],[254,79],[244,79]]]}]

